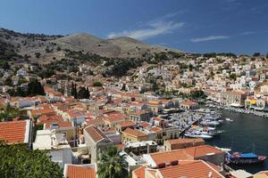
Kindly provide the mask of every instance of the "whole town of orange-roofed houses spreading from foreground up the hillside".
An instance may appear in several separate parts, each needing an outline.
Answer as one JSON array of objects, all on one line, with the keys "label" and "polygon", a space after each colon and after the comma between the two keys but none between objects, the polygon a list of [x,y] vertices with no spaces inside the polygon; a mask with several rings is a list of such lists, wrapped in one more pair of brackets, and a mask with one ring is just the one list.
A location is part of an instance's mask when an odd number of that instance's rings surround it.
[{"label": "whole town of orange-roofed houses spreading from foreground up the hillside", "polygon": [[[3,65],[0,140],[47,150],[63,176],[97,177],[102,152],[113,146],[133,178],[240,177],[225,152],[183,133],[202,105],[263,114],[268,109],[268,59],[188,54],[143,63],[130,75],[92,75],[91,66],[50,77],[35,65]],[[64,77],[63,77],[64,75]],[[165,117],[178,112],[180,124]],[[249,174],[247,177],[258,177]],[[246,177],[246,176],[245,176]]]}]

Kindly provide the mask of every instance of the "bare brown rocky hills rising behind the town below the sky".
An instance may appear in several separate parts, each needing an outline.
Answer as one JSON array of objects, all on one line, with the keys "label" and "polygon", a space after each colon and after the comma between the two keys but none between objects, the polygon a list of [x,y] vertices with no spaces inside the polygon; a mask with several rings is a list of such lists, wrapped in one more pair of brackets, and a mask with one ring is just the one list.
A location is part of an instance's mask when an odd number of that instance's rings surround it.
[{"label": "bare brown rocky hills rising behind the town below the sky", "polygon": [[130,37],[101,39],[88,34],[70,36],[46,36],[43,34],[21,34],[0,28],[0,57],[24,59],[38,63],[60,60],[66,50],[90,53],[106,58],[143,58],[155,53],[181,53],[163,46],[143,44]]}]

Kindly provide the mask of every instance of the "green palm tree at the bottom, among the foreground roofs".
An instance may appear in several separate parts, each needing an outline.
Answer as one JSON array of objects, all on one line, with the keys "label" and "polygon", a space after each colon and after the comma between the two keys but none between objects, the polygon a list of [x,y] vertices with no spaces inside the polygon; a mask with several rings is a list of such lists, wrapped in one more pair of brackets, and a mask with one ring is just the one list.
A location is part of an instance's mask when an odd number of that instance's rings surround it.
[{"label": "green palm tree at the bottom, among the foreground roofs", "polygon": [[99,178],[127,178],[128,163],[119,155],[116,147],[109,146],[100,153],[97,165],[97,174]]}]

